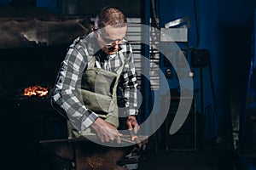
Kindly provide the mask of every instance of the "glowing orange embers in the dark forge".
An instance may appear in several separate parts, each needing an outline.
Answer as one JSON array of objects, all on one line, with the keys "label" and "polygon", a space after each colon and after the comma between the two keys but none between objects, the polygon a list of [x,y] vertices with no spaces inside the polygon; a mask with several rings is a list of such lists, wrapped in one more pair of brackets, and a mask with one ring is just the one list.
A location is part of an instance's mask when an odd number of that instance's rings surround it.
[{"label": "glowing orange embers in the dark forge", "polygon": [[43,97],[48,94],[48,88],[41,86],[32,86],[24,89],[23,95],[25,96],[40,96]]}]

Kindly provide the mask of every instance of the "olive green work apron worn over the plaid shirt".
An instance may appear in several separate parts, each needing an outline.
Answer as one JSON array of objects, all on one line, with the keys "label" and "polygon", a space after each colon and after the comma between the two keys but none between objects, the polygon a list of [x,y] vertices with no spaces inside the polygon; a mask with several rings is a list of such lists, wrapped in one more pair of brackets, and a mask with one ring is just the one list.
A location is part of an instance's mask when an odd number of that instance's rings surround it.
[{"label": "olive green work apron worn over the plaid shirt", "polygon": [[[119,112],[117,105],[117,87],[119,77],[124,68],[124,55],[119,51],[122,64],[116,73],[95,67],[96,57],[90,58],[89,65],[82,76],[80,92],[84,105],[94,111],[106,122],[119,127]],[[81,135],[93,134],[90,127],[78,132],[70,122],[67,122],[69,138],[78,138]]]}]

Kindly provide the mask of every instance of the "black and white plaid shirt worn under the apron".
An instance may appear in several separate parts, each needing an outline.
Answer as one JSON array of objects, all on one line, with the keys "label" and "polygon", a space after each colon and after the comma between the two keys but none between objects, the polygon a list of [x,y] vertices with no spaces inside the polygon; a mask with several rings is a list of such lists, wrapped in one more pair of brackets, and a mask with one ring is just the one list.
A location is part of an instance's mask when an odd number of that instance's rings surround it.
[{"label": "black and white plaid shirt worn under the apron", "polygon": [[[119,78],[119,89],[123,90],[126,113],[137,115],[137,75],[131,44],[125,42],[119,50],[125,58],[124,69]],[[107,55],[99,48],[93,32],[86,37],[78,37],[69,46],[66,58],[61,62],[51,98],[53,107],[73,122],[73,126],[79,131],[90,127],[98,117],[95,112],[86,108],[79,95],[75,95],[84,69],[87,68],[90,56],[93,55],[96,56],[97,68],[116,72],[121,65],[118,53]]]}]

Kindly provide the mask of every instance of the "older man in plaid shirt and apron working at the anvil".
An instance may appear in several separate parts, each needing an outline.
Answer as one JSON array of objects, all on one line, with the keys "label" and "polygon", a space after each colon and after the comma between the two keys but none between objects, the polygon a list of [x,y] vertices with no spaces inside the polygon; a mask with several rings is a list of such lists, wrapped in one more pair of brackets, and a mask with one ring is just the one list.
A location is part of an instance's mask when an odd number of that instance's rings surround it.
[{"label": "older man in plaid shirt and apron working at the anvil", "polygon": [[117,89],[125,99],[126,125],[137,133],[137,78],[127,20],[118,8],[97,14],[95,28],[69,46],[51,104],[71,122],[72,136],[96,133],[102,142],[121,142]]}]

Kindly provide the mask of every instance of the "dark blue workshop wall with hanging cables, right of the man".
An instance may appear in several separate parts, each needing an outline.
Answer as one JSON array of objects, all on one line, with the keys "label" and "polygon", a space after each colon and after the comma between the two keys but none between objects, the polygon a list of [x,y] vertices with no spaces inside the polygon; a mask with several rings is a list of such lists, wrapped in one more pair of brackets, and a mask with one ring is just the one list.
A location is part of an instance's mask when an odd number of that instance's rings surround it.
[{"label": "dark blue workshop wall with hanging cables, right of the man", "polygon": [[[246,92],[247,72],[251,57],[253,33],[253,8],[256,2],[246,1],[168,1],[160,0],[160,24],[178,18],[189,17],[189,47],[207,48],[210,52],[212,69],[203,69],[204,107],[214,101],[212,90],[216,92],[218,111],[214,120],[206,122],[207,138],[218,136],[223,144],[232,144],[232,130],[237,128]],[[197,17],[197,18],[196,18]],[[198,31],[198,32],[197,32]],[[195,71],[195,96],[200,98],[200,75]],[[210,82],[212,70],[213,84]],[[213,92],[214,92],[213,91]],[[197,105],[201,105],[200,99]],[[199,106],[200,111],[201,106]],[[234,118],[235,117],[235,118]],[[235,126],[235,127],[234,127]],[[215,129],[214,129],[215,128]],[[236,134],[234,134],[236,135]],[[232,147],[232,146],[231,146]]]}]

